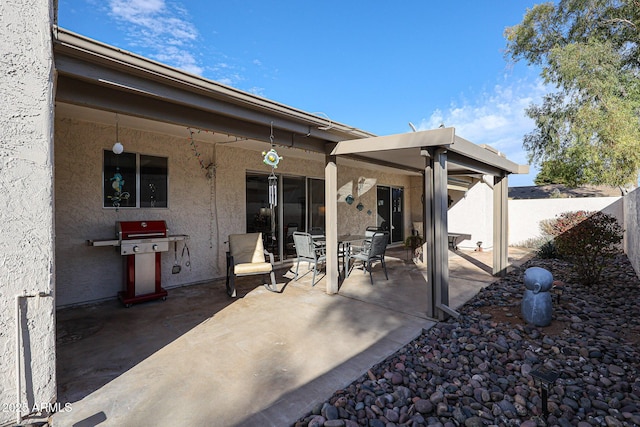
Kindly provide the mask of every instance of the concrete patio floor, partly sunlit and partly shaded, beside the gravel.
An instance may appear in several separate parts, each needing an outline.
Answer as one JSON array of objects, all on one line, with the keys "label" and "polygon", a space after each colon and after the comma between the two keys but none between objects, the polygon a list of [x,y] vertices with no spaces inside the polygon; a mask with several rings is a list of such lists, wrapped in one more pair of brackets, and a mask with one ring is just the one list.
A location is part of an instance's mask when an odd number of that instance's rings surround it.
[{"label": "concrete patio floor, partly sunlit and partly shaded, beside the gravel", "polygon": [[[496,278],[491,252],[449,254],[456,308]],[[513,264],[528,255],[509,254]],[[51,423],[289,426],[435,324],[426,272],[401,248],[386,259],[389,280],[380,266],[373,285],[354,271],[337,295],[283,268],[281,293],[246,277],[236,299],[218,280],[129,309],[113,300],[60,310],[58,402],[71,410]]]}]

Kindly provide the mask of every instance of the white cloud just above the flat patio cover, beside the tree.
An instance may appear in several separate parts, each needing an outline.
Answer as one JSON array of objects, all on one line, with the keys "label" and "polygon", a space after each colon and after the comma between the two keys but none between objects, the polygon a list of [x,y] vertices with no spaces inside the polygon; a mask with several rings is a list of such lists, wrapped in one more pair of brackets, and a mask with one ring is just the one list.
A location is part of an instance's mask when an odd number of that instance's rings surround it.
[{"label": "white cloud just above the flat patio cover, beside the tree", "polygon": [[[452,103],[445,111],[435,110],[420,122],[418,130],[434,129],[441,124],[453,126],[456,135],[475,144],[490,145],[515,163],[527,164],[522,141],[527,133],[534,130],[535,124],[527,117],[525,109],[533,103],[539,104],[542,96],[550,91],[540,80],[496,85],[473,102]],[[529,175],[512,175],[510,185],[518,182],[523,182],[518,185],[533,185],[536,173],[531,168]]]}]

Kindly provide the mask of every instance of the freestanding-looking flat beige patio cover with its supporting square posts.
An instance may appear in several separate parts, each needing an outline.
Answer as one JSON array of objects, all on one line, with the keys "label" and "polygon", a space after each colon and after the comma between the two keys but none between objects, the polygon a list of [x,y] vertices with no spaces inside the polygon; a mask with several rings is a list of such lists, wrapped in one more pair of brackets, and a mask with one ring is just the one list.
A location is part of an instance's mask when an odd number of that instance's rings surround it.
[{"label": "freestanding-looking flat beige patio cover with its supporting square posts", "polygon": [[[335,158],[346,156],[360,161],[421,172],[423,174],[423,230],[425,230],[425,261],[430,306],[427,315],[443,319],[457,315],[449,304],[449,264],[447,230],[447,183],[450,175],[492,175],[494,177],[493,272],[504,273],[507,268],[507,176],[527,173],[528,165],[518,165],[498,151],[473,144],[455,134],[455,129],[439,128],[340,141],[327,158],[325,170],[327,193],[327,254],[337,251],[337,233],[333,225],[338,221],[335,183]],[[337,259],[327,258],[327,292],[337,292],[334,279]]]}]

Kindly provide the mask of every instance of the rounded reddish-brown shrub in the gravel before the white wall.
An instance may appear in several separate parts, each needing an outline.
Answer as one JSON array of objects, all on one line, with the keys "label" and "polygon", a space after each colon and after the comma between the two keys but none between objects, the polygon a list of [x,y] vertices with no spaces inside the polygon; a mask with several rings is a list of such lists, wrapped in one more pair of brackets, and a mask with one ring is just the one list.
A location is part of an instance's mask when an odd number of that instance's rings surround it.
[{"label": "rounded reddish-brown shrub in the gravel before the white wall", "polygon": [[573,263],[584,284],[600,281],[607,261],[620,252],[622,227],[603,212],[565,212],[552,225],[555,246],[563,258]]}]

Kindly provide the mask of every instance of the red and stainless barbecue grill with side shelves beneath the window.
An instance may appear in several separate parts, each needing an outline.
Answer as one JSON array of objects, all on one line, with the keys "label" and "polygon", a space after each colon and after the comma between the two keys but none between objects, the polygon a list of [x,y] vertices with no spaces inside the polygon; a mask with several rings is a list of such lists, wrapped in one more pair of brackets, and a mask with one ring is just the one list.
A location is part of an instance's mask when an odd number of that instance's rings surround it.
[{"label": "red and stainless barbecue grill with side shelves beneath the window", "polygon": [[161,285],[161,254],[169,243],[186,240],[184,234],[169,235],[165,221],[117,221],[116,240],[89,240],[91,246],[120,247],[124,257],[124,290],[118,298],[125,307],[167,298]]}]

